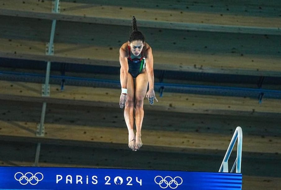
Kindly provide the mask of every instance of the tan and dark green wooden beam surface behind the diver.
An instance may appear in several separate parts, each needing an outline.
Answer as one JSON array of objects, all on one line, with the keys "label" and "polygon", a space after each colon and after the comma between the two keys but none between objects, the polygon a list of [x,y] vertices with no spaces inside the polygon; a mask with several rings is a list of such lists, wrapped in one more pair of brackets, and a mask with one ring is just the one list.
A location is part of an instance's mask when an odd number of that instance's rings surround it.
[{"label": "tan and dark green wooden beam surface behind the diver", "polygon": [[[119,67],[119,48],[135,15],[155,69],[281,77],[277,0],[63,0],[60,13],[51,7],[49,0],[0,0],[0,57]],[[216,172],[241,126],[243,189],[281,188],[280,99],[258,104],[248,97],[167,92],[153,106],[145,99],[143,147],[133,152],[118,108],[120,90],[59,89],[51,85],[51,96],[42,97],[41,84],[0,81],[0,165],[33,165],[41,142],[40,166]],[[45,135],[37,137],[42,102]]]}]

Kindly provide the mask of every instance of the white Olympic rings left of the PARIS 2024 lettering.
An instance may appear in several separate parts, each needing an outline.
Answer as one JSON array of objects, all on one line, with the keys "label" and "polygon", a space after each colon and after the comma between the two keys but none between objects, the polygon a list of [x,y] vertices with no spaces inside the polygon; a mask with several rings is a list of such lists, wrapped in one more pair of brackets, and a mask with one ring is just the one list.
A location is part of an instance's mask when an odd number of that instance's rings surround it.
[{"label": "white Olympic rings left of the PARIS 2024 lettering", "polygon": [[31,172],[27,172],[25,175],[23,175],[23,173],[21,172],[17,172],[14,177],[22,185],[26,185],[27,183],[30,183],[31,185],[36,185],[39,181],[42,181],[44,178],[43,174],[40,172],[37,172],[35,175],[33,175]]}]

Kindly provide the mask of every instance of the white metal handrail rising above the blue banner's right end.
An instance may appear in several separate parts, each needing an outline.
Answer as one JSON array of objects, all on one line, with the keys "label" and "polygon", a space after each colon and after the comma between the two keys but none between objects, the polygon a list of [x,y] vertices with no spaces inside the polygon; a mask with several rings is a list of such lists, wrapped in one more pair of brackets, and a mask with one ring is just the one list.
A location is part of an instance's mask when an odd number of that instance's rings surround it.
[{"label": "white metal handrail rising above the blue banner's right end", "polygon": [[229,147],[225,153],[225,156],[224,156],[224,160],[222,161],[221,163],[221,166],[220,166],[220,170],[219,172],[228,172],[228,159],[230,157],[230,154],[232,152],[232,149],[234,147],[234,144],[236,142],[236,140],[238,139],[238,142],[237,142],[237,157],[236,157],[236,160],[233,164],[233,167],[231,169],[231,172],[233,172],[234,170],[234,167],[236,165],[236,173],[241,173],[241,156],[242,156],[242,128],[241,127],[236,127],[236,130],[233,134],[233,137],[229,143]]}]

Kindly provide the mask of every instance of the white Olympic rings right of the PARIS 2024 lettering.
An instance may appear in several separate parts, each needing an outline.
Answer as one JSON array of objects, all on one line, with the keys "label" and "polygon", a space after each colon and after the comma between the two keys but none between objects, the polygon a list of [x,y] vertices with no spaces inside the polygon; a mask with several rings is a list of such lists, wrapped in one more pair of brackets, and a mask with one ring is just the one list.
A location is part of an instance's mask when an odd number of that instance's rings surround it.
[{"label": "white Olympic rings right of the PARIS 2024 lettering", "polygon": [[[160,178],[160,179],[159,179]],[[156,184],[158,184],[162,189],[167,188],[168,186],[171,189],[176,189],[178,188],[179,185],[181,185],[183,183],[183,179],[179,176],[174,177],[174,179],[170,176],[166,176],[165,178],[163,178],[160,175],[157,175],[154,178],[154,181]],[[168,182],[169,181],[169,182]]]}]

